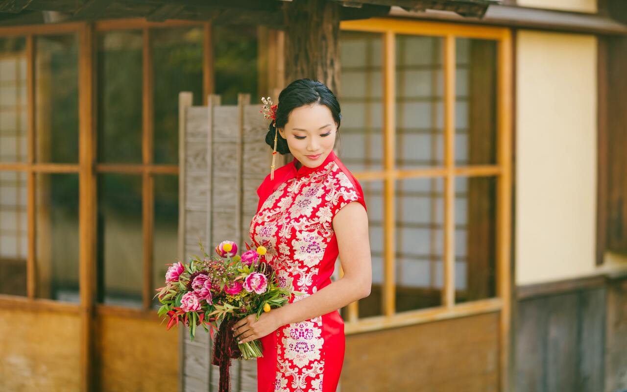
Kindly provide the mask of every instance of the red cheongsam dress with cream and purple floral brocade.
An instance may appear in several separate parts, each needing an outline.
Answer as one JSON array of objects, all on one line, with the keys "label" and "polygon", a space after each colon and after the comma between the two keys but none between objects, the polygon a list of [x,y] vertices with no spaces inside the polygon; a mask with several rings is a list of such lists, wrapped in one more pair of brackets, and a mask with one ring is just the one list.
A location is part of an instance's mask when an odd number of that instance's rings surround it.
[{"label": "red cheongsam dress with cream and purple floral brocade", "polygon": [[[317,167],[296,168],[294,159],[257,189],[259,205],[250,225],[255,246],[268,249],[279,285],[303,295],[329,285],[338,255],[332,221],[343,206],[358,201],[361,186],[331,151]],[[344,361],[344,320],[337,310],[279,327],[261,338],[257,359],[259,392],[332,392]]]}]

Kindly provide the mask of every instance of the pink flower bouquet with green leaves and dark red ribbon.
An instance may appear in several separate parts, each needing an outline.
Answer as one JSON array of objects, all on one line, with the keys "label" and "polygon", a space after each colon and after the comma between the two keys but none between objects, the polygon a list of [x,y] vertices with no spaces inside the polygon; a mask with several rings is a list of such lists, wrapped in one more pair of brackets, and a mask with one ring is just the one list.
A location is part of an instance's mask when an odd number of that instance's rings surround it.
[{"label": "pink flower bouquet with green leaves and dark red ribbon", "polygon": [[196,329],[202,327],[213,337],[214,365],[220,367],[220,391],[228,391],[228,368],[231,359],[252,359],[262,356],[261,342],[239,344],[231,326],[250,314],[260,317],[262,312],[287,304],[294,292],[278,286],[273,268],[261,262],[266,248],[252,249],[246,243],[246,252],[237,254],[233,241],[222,241],[216,246],[218,257],[193,255],[189,263],[169,264],[166,285],[157,289],[155,297],[161,302],[159,317],[167,320],[166,329],[179,322],[189,327],[193,341]]}]

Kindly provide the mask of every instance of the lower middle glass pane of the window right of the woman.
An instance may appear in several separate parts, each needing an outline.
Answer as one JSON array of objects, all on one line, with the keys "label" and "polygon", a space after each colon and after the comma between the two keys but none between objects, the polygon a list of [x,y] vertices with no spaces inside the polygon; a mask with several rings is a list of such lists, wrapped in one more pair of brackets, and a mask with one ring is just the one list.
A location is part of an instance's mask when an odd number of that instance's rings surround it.
[{"label": "lower middle glass pane of the window right of the woman", "polygon": [[444,180],[396,182],[396,311],[441,305]]}]

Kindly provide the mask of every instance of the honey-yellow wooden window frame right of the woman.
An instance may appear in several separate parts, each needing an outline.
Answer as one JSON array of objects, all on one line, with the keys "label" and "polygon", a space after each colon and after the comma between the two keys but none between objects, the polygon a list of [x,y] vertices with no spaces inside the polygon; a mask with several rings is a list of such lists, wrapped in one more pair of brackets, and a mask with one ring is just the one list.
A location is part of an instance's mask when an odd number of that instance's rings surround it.
[{"label": "honey-yellow wooden window frame right of the woman", "polygon": [[[510,247],[511,247],[511,203],[512,203],[512,35],[507,28],[468,26],[461,24],[411,21],[407,19],[371,18],[366,20],[342,21],[342,31],[379,33],[382,36],[382,91],[383,91],[383,168],[379,171],[354,172],[359,181],[383,181],[384,183],[384,277],[382,287],[382,315],[358,317],[358,303],[347,306],[345,332],[377,331],[389,327],[408,326],[435,320],[463,317],[487,312],[500,313],[500,366],[507,374],[507,355],[510,331]],[[426,169],[399,169],[395,162],[396,129],[396,35],[413,34],[437,36],[444,44],[444,165]],[[497,41],[497,162],[490,165],[455,166],[455,39],[477,38]],[[497,179],[496,223],[496,268],[497,296],[489,299],[455,303],[455,178],[457,176],[485,177]],[[426,309],[396,313],[394,276],[394,192],[398,179],[443,178],[444,179],[444,254],[442,305]],[[505,384],[502,384],[505,386]]]}]

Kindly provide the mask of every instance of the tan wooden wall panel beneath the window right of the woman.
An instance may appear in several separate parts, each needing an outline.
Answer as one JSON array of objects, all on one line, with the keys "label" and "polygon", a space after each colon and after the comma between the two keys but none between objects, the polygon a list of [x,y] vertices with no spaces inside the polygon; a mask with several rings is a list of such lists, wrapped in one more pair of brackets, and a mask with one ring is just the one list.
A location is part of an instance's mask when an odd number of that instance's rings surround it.
[{"label": "tan wooden wall panel beneath the window right of the woman", "polygon": [[342,392],[497,392],[498,346],[498,312],[352,334]]}]

